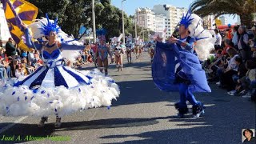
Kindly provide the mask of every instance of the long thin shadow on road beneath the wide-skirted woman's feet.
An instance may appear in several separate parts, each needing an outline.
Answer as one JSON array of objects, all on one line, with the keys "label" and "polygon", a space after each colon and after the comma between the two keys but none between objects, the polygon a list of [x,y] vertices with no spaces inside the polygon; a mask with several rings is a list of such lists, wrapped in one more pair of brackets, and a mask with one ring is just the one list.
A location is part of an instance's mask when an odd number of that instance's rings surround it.
[{"label": "long thin shadow on road beneath the wide-skirted woman's feet", "polygon": [[[110,118],[110,119],[99,119],[87,122],[62,122],[60,129],[54,129],[54,123],[46,123],[46,126],[38,128],[38,125],[18,123],[10,130],[0,134],[0,138],[5,136],[15,136],[15,139],[20,136],[20,141],[15,143],[36,141],[35,139],[25,140],[26,137],[38,137],[47,138],[56,137],[55,131],[68,131],[68,130],[92,130],[92,129],[108,129],[108,128],[121,128],[121,127],[137,127],[137,126],[150,126],[158,124],[160,119],[168,119],[171,117],[162,118]],[[3,123],[4,125],[10,125],[12,123]],[[1,143],[2,141],[0,141]],[[14,142],[13,142],[14,143]]]}]

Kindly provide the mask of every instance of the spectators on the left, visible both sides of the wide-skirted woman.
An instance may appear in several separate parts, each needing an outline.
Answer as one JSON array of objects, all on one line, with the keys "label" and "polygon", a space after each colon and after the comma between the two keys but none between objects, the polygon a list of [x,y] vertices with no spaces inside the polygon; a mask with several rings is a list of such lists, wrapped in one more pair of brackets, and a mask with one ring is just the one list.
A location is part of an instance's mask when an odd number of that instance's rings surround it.
[{"label": "spectators on the left, visible both sides of the wide-skirted woman", "polygon": [[[86,49],[81,52],[81,56],[76,58],[76,62],[63,62],[67,66],[82,67],[93,62],[93,50],[90,45],[86,45]],[[20,78],[28,74],[32,74],[43,62],[38,50],[20,50],[14,44],[12,38],[9,38],[6,45],[3,46],[0,40],[0,79],[4,78]]]}]

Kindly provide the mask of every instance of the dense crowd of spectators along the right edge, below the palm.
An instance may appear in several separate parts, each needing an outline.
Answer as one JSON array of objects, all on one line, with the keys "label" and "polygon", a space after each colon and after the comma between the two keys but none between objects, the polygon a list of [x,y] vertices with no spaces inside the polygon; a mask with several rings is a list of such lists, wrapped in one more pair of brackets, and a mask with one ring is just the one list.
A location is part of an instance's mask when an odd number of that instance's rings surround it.
[{"label": "dense crowd of spectators along the right edge, below the palm", "polygon": [[215,56],[203,66],[208,81],[216,82],[230,95],[251,97],[256,88],[256,27],[234,26],[214,32]]}]

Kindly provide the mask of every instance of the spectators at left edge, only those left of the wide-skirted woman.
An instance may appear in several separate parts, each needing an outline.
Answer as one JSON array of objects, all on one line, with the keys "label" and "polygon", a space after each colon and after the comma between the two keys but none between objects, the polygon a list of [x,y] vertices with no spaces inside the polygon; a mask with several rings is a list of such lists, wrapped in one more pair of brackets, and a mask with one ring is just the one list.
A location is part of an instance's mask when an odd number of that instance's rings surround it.
[{"label": "spectators at left edge, only those left of the wide-skirted woman", "polygon": [[37,50],[20,50],[14,45],[12,38],[9,38],[5,47],[0,41],[0,79],[26,76],[38,66],[42,66],[42,60]]}]

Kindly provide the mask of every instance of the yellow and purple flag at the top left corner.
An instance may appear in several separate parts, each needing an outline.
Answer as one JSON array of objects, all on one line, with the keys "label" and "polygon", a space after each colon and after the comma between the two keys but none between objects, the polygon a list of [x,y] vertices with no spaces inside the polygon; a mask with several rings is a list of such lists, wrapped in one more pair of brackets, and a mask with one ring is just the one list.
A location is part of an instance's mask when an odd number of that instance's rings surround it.
[{"label": "yellow and purple flag at the top left corner", "polygon": [[24,0],[1,0],[3,10],[5,11],[6,22],[8,24],[10,35],[14,42],[22,50],[30,50],[24,40],[24,28],[22,23],[29,25],[38,15],[38,8],[30,2]]}]

